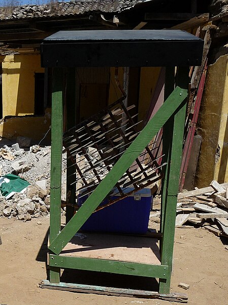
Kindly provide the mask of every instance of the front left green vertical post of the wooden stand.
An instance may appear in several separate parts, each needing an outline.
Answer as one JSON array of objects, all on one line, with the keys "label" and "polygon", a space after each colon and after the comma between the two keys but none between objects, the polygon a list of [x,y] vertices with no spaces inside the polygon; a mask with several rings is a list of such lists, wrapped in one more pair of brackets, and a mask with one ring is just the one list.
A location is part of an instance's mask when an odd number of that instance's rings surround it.
[{"label": "front left green vertical post of the wooden stand", "polygon": [[[50,242],[61,229],[62,70],[53,69],[51,110]],[[60,268],[50,267],[50,282],[59,283]]]}]

